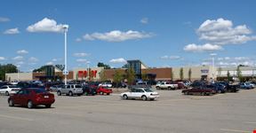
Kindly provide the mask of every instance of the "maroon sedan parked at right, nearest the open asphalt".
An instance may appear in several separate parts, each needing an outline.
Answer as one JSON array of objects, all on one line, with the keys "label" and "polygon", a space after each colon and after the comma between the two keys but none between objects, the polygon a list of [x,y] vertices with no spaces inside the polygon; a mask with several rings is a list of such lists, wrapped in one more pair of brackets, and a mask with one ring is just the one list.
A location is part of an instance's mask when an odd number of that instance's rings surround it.
[{"label": "maroon sedan parked at right, nearest the open asphalt", "polygon": [[188,90],[182,90],[181,92],[184,93],[185,95],[190,95],[190,94],[212,95],[212,94],[216,93],[215,90],[207,89],[204,87],[196,87],[196,88],[192,88],[192,89],[188,89]]}]

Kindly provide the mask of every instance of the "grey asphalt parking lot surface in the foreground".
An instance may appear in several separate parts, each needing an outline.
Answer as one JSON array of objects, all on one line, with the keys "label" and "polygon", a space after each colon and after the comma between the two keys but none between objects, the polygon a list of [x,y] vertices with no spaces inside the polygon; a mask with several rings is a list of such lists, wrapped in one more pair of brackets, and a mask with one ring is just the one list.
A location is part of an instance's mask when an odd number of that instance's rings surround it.
[{"label": "grey asphalt parking lot surface in the foreground", "polygon": [[9,107],[0,96],[0,133],[252,133],[256,90],[185,96],[158,90],[156,101],[57,96],[52,108]]}]

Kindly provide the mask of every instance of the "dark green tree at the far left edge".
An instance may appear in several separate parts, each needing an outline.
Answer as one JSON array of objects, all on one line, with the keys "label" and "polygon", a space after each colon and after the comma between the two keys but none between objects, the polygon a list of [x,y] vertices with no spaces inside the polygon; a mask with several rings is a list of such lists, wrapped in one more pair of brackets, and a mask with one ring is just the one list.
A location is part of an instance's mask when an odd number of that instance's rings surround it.
[{"label": "dark green tree at the far left edge", "polygon": [[17,73],[18,69],[17,66],[14,66],[12,64],[7,65],[0,65],[0,80],[5,81],[5,74],[6,73]]}]

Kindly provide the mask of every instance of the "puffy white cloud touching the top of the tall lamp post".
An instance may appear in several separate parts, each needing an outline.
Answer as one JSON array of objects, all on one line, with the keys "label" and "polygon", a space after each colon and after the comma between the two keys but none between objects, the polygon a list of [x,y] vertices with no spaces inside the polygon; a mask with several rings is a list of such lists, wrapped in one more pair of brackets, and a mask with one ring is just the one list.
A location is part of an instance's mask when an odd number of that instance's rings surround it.
[{"label": "puffy white cloud touching the top of the tall lamp post", "polygon": [[55,20],[44,18],[36,22],[36,24],[27,27],[28,32],[63,32],[63,24],[57,25]]}]

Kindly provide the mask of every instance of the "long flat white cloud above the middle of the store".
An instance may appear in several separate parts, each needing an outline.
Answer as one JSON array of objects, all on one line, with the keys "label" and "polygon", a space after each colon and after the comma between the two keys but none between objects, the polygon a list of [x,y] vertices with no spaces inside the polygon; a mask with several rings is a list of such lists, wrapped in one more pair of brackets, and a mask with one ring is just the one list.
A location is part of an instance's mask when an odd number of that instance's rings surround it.
[{"label": "long flat white cloud above the middle of the store", "polygon": [[101,40],[107,42],[124,42],[127,40],[136,40],[142,38],[151,37],[152,34],[143,33],[139,31],[128,30],[127,32],[122,32],[120,30],[113,30],[108,33],[93,33],[92,35],[84,35],[85,40]]}]

